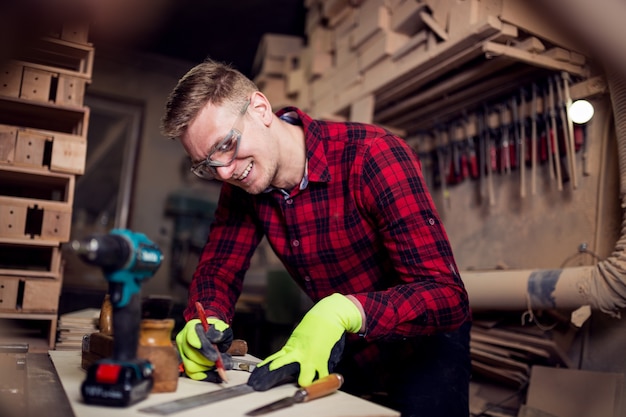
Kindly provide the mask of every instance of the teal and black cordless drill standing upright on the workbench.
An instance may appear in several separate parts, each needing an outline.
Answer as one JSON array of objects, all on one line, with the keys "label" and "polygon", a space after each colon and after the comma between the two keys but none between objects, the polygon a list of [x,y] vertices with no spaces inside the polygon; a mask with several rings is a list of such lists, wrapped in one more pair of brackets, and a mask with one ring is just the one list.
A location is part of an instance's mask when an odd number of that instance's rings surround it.
[{"label": "teal and black cordless drill standing upright on the workbench", "polygon": [[144,234],[113,229],[71,243],[86,263],[102,268],[113,306],[113,357],[94,362],[81,385],[87,404],[125,407],[153,386],[152,364],[137,358],[141,282],[159,269],[163,255]]}]

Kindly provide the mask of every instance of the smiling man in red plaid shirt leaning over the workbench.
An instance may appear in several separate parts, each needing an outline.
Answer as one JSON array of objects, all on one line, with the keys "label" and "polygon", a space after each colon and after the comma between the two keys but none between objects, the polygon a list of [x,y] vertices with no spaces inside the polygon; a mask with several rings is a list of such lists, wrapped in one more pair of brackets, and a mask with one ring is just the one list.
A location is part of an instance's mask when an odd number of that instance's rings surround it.
[{"label": "smiling man in red plaid shirt leaning over the workbench", "polygon": [[[265,236],[315,305],[249,379],[266,390],[342,373],[342,390],[407,416],[467,417],[470,312],[446,232],[406,143],[372,125],[272,112],[256,85],[207,60],[172,91],[163,133],[223,182],[177,344],[217,381],[217,344]],[[211,316],[205,333],[200,301]]]}]

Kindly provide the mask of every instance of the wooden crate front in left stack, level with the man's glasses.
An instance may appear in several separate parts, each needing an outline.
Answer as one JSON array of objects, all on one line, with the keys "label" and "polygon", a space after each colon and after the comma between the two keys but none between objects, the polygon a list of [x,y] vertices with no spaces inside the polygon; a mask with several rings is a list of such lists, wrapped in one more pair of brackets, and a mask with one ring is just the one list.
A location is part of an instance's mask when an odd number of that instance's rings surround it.
[{"label": "wooden crate front in left stack, level with the man's glasses", "polygon": [[86,157],[81,136],[0,125],[0,163],[83,174]]}]

